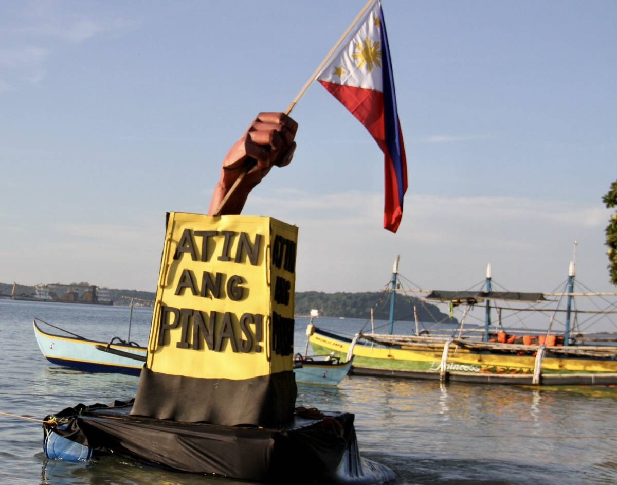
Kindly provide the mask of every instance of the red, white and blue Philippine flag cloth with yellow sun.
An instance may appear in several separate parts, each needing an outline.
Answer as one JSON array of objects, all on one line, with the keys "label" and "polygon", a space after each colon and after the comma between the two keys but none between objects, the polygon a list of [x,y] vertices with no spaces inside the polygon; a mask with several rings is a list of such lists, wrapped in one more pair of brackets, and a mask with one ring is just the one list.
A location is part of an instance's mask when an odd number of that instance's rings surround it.
[{"label": "red, white and blue Philippine flag cloth with yellow sun", "polygon": [[380,2],[358,20],[349,45],[321,71],[317,80],[366,127],[383,151],[384,228],[395,233],[407,191],[407,159]]}]

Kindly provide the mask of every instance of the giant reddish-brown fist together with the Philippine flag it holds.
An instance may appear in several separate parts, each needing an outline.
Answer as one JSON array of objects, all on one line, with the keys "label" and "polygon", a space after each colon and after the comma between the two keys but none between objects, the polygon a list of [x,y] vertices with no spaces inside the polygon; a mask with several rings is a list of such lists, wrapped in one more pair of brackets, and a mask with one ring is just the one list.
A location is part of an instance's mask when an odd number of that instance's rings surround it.
[{"label": "giant reddish-brown fist together with the Philippine flag it holds", "polygon": [[[347,47],[332,57],[354,27],[353,38]],[[268,173],[271,165],[283,167],[289,163],[295,147],[293,138],[297,125],[286,115],[316,78],[360,120],[384,153],[384,228],[395,233],[400,225],[403,197],[407,191],[407,160],[396,107],[386,25],[378,0],[368,1],[284,114],[260,114],[232,147],[223,161],[221,179],[209,213],[240,213],[247,195]],[[264,115],[267,119],[263,118]],[[268,135],[274,131],[280,132],[275,135],[283,136]],[[269,147],[267,156],[255,155],[257,152],[263,155],[263,147]]]}]

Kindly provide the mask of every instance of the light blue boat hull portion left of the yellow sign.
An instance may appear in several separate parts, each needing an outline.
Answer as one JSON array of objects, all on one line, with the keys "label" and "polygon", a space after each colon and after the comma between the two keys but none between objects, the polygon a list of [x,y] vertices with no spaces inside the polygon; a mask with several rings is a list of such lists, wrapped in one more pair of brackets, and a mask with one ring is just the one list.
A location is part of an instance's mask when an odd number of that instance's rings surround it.
[{"label": "light blue boat hull portion left of the yellow sign", "polygon": [[146,360],[144,347],[59,336],[43,331],[36,321],[33,325],[43,356],[62,367],[139,376]]}]

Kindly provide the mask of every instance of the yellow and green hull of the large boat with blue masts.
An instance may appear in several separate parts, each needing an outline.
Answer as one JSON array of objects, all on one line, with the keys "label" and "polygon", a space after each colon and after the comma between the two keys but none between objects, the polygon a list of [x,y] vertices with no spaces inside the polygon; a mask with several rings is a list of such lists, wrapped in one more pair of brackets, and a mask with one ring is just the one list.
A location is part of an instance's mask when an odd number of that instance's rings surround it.
[{"label": "yellow and green hull of the large boat with blue masts", "polygon": [[[334,351],[347,355],[351,339],[316,328],[310,336],[315,353]],[[507,350],[478,350],[451,345],[444,356],[445,341],[427,341],[405,346],[384,346],[358,341],[354,347],[353,375],[391,376],[412,379],[532,384],[536,356]],[[444,359],[445,357],[445,359]],[[445,363],[445,370],[442,370]],[[615,384],[617,360],[553,355],[550,348],[542,360],[542,384]],[[540,383],[540,382],[537,382]]]}]

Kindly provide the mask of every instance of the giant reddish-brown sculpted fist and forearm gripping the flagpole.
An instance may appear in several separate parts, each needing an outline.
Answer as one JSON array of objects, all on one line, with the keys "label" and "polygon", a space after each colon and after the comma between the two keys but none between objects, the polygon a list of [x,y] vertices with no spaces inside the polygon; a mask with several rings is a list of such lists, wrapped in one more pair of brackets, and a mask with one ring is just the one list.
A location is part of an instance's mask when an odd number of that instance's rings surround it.
[{"label": "giant reddish-brown sculpted fist and forearm gripping the flagpole", "polygon": [[284,113],[260,113],[249,129],[231,147],[221,168],[220,180],[210,202],[209,214],[215,215],[231,186],[250,167],[225,202],[220,215],[239,214],[246,198],[255,185],[276,165],[284,167],[291,162],[296,149],[294,137],[297,123]]}]

